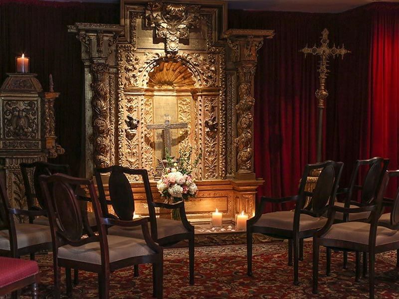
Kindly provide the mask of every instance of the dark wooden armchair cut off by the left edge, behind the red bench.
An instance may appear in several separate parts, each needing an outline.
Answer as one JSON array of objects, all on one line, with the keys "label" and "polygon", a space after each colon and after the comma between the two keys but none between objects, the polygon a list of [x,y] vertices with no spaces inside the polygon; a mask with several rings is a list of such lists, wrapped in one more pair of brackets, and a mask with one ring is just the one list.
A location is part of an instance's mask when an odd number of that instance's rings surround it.
[{"label": "dark wooden armchair cut off by the left edge, behind the red bench", "polygon": [[[51,250],[51,234],[48,226],[31,223],[15,223],[14,219],[14,215],[35,217],[44,215],[45,211],[27,211],[10,208],[7,192],[1,180],[0,211],[0,218],[2,218],[2,227],[0,228],[0,256],[19,258],[20,256],[29,254],[30,259],[33,260],[36,252]],[[0,269],[3,271],[3,268]],[[17,273],[15,275],[17,275]],[[27,279],[27,281],[30,280]],[[6,287],[4,288],[9,290]],[[17,298],[16,292],[12,293],[12,298]]]}]

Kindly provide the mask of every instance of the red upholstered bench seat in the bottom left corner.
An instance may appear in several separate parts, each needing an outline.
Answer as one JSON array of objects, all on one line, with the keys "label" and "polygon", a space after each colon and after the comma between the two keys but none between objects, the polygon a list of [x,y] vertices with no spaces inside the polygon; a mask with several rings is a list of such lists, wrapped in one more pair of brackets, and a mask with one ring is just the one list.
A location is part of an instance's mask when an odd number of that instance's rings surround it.
[{"label": "red upholstered bench seat in the bottom left corner", "polygon": [[35,261],[0,257],[0,296],[32,285],[32,298],[38,299],[39,267]]}]

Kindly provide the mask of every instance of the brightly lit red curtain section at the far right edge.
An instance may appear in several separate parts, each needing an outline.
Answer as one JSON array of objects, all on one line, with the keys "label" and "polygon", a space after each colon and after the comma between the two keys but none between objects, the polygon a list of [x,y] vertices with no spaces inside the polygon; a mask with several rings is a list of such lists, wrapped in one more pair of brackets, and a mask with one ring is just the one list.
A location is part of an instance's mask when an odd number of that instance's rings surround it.
[{"label": "brightly lit red curtain section at the far right edge", "polygon": [[[362,140],[365,155],[399,158],[399,5],[385,3],[373,12],[370,57],[370,121]],[[398,183],[390,184],[392,196]]]}]

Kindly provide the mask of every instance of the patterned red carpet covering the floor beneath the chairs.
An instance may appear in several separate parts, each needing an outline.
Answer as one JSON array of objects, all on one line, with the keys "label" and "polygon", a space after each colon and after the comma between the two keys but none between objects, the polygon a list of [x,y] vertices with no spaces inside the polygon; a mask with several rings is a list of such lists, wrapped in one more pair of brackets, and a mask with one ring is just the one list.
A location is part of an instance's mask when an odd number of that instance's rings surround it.
[{"label": "patterned red carpet covering the floor beneath the chairs", "polygon": [[[355,282],[354,254],[349,255],[348,270],[342,269],[342,254],[332,255],[332,274],[323,273],[325,255],[321,254],[319,296],[311,293],[311,242],[305,242],[305,257],[300,264],[300,286],[292,284],[293,268],[287,265],[287,243],[254,245],[253,277],[246,276],[246,246],[196,248],[196,285],[188,280],[188,250],[166,249],[164,262],[164,298],[368,298],[368,280]],[[323,250],[324,252],[324,250]],[[38,256],[41,298],[52,298],[51,255]],[[376,298],[399,298],[396,252],[377,255]],[[151,298],[151,266],[140,266],[140,276],[133,269],[111,275],[111,298]],[[65,294],[65,277],[62,293]],[[21,298],[29,298],[26,288]],[[66,298],[66,296],[64,296]],[[98,298],[97,276],[80,272],[80,283],[73,287],[73,298]]]}]

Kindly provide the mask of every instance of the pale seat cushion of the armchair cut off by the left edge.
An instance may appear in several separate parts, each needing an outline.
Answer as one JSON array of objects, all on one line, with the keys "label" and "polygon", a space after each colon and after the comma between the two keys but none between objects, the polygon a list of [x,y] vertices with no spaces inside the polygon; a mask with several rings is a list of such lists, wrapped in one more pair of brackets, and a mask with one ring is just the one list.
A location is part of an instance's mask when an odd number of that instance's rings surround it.
[{"label": "pale seat cushion of the armchair cut off by the left edge", "polygon": [[[16,223],[15,235],[18,249],[42,243],[51,243],[51,233],[47,226]],[[8,229],[0,231],[0,249],[10,250]]]}]

